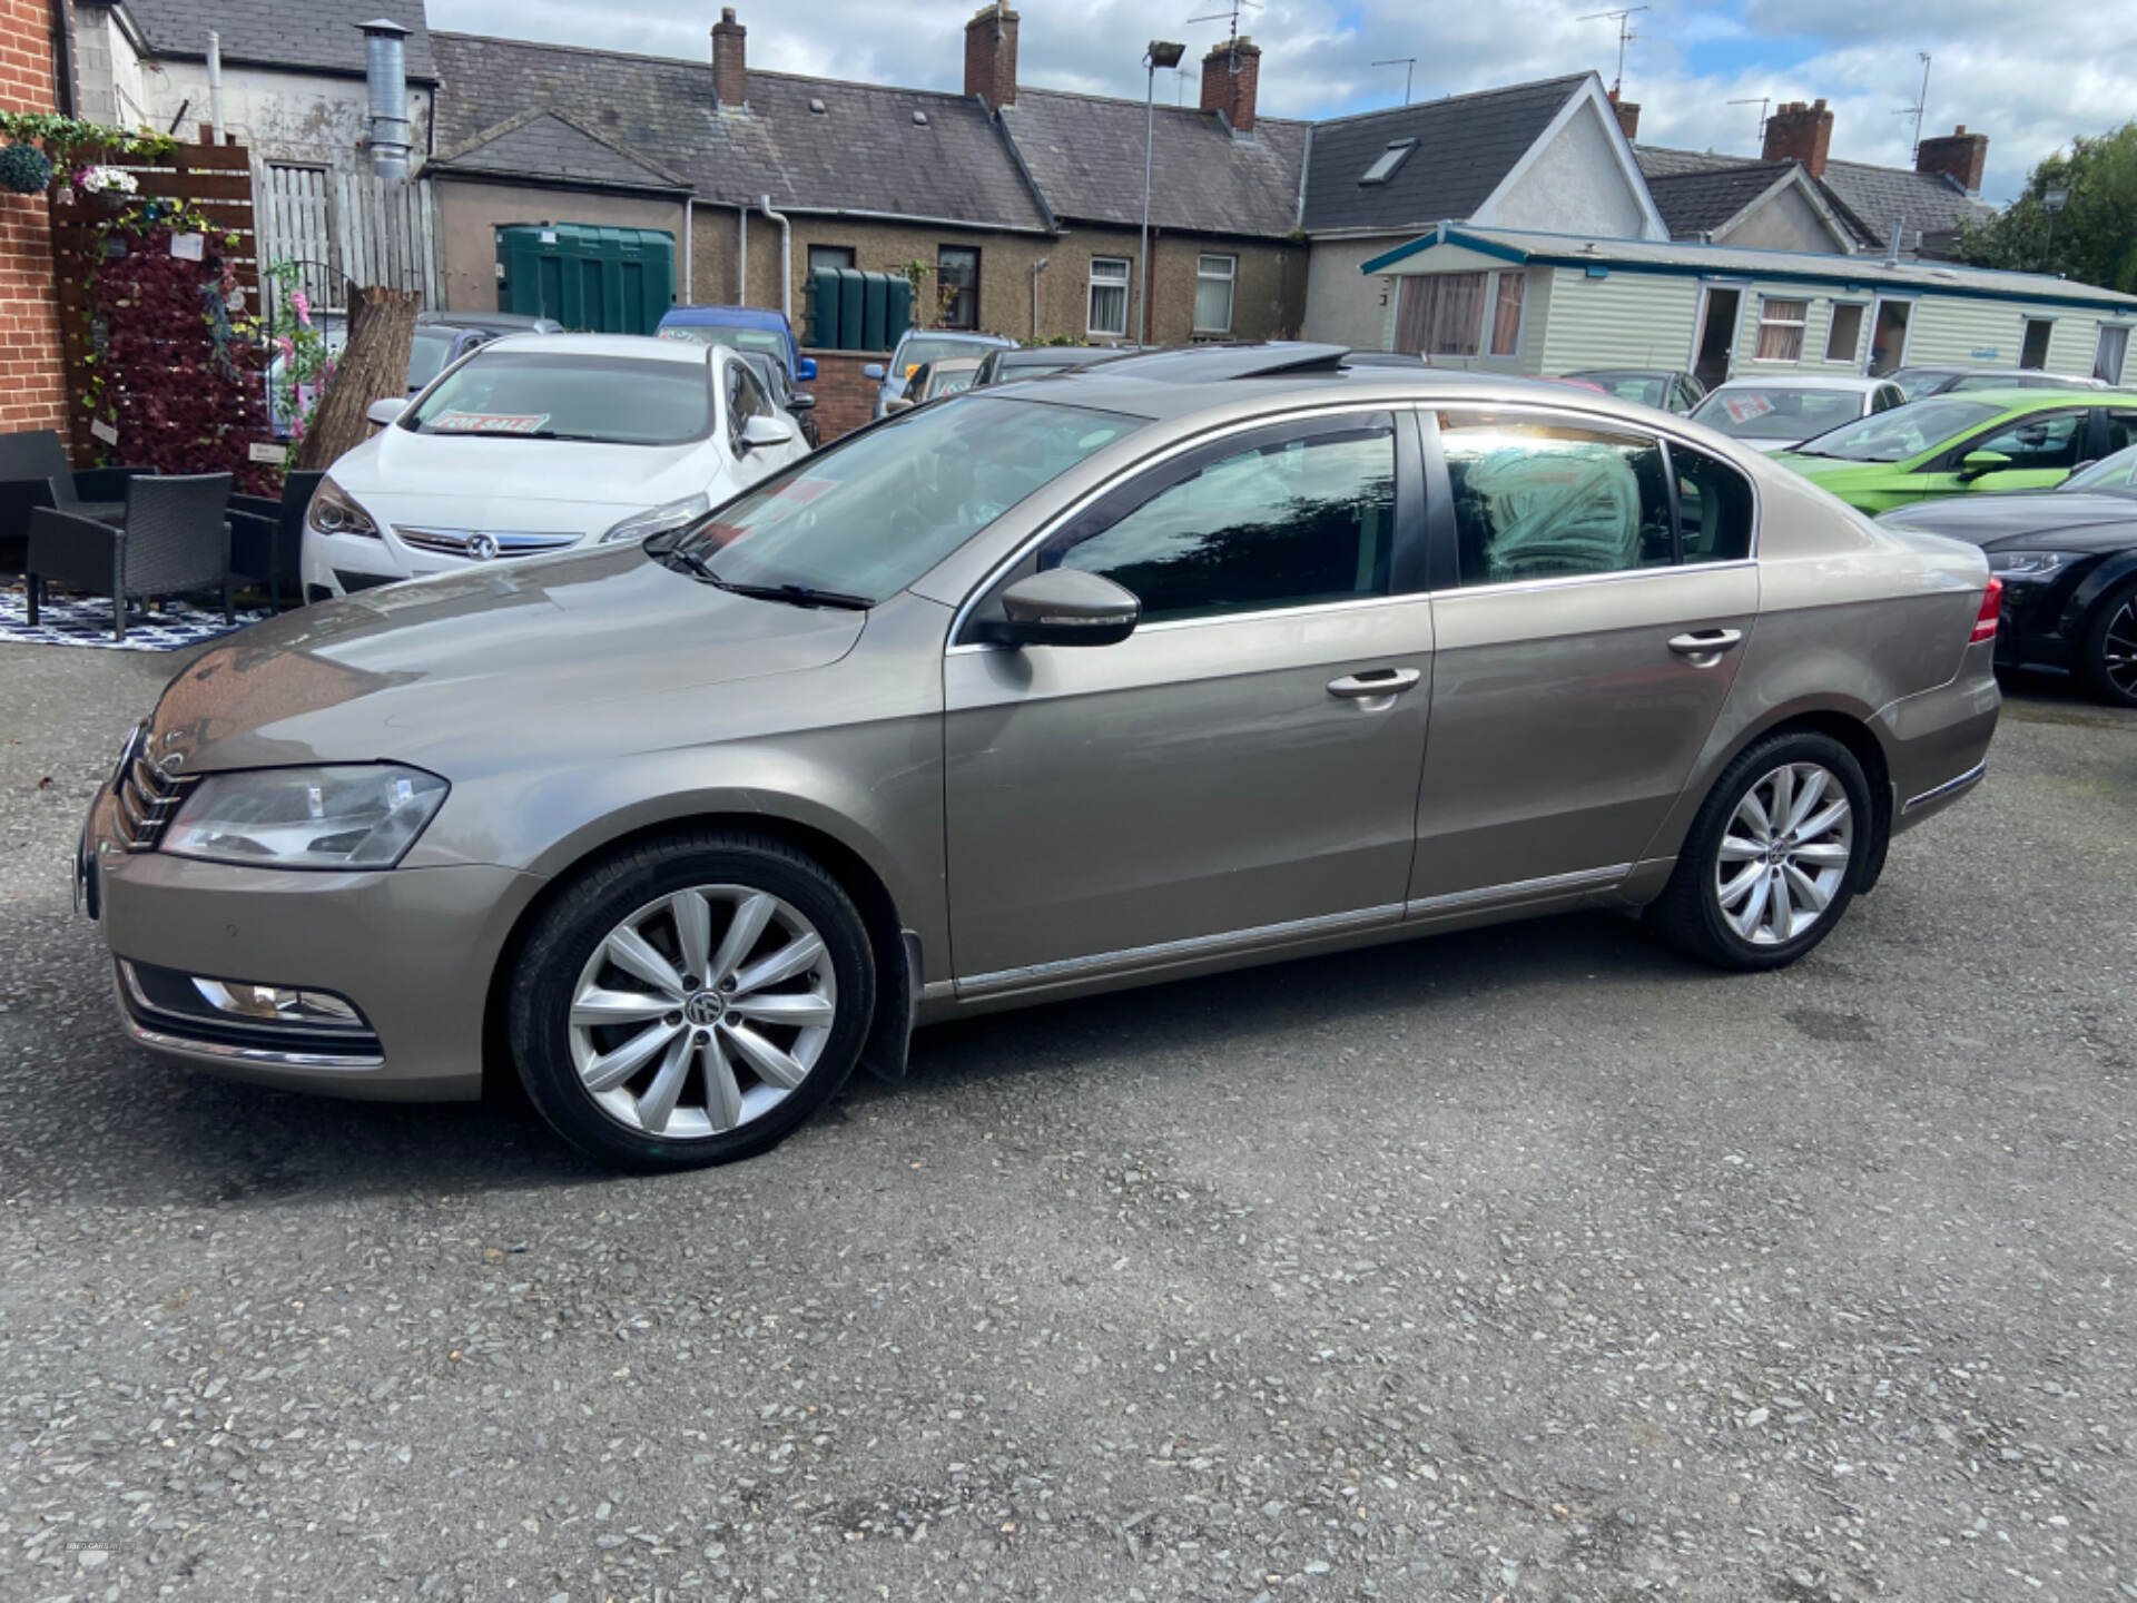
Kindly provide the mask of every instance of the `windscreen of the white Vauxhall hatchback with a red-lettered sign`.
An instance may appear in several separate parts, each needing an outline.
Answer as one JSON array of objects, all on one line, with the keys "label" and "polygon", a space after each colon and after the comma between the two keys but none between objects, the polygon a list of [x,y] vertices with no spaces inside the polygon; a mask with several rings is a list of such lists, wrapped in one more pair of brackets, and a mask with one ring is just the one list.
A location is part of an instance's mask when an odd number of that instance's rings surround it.
[{"label": "windscreen of the white Vauxhall hatchback with a red-lettered sign", "polygon": [[400,427],[417,434],[684,445],[712,432],[697,361],[477,351]]}]

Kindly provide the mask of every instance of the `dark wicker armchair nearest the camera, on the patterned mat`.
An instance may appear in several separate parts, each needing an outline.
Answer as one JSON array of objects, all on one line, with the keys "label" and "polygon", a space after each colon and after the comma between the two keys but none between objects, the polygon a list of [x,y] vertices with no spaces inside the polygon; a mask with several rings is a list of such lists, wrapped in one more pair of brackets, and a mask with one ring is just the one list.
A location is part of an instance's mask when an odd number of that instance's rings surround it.
[{"label": "dark wicker armchair nearest the camera, on the patterned mat", "polygon": [[231,609],[231,474],[194,472],[126,483],[126,528],[38,507],[30,513],[30,622],[45,586],[111,596],[111,639],[126,639],[126,603],[147,596],[222,594]]}]

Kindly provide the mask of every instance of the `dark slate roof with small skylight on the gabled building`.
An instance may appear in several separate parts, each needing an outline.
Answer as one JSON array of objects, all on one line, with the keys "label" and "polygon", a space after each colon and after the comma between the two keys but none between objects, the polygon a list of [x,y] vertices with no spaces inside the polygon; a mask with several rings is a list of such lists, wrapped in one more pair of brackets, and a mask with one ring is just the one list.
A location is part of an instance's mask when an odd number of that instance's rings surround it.
[{"label": "dark slate roof with small skylight on the gabled building", "polygon": [[[1590,77],[1577,73],[1316,122],[1306,231],[1430,229],[1440,218],[1470,216]],[[1385,184],[1359,184],[1398,139],[1417,141],[1410,158]]]}]

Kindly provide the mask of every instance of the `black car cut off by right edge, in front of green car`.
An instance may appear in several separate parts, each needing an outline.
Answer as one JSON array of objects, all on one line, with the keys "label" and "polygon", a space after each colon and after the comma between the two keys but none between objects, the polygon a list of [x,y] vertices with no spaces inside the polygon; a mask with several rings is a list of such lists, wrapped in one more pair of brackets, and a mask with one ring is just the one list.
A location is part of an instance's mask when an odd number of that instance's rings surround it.
[{"label": "black car cut off by right edge, in front of green car", "polygon": [[1998,667],[2071,673],[2137,707],[2137,445],[2054,489],[1923,500],[1878,522],[1987,551],[2005,581]]}]

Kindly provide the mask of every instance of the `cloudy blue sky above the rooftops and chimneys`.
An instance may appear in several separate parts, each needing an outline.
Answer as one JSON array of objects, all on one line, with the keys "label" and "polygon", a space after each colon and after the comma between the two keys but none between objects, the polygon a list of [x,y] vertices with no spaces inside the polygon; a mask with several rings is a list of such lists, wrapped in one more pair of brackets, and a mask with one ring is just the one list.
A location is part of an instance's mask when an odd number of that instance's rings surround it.
[{"label": "cloudy blue sky above the rooftops and chimneys", "polygon": [[[1584,13],[1628,0],[1263,0],[1242,32],[1263,47],[1261,107],[1333,115],[1402,100],[1598,68],[1616,71],[1613,21]],[[1225,36],[1231,0],[1015,0],[1026,83],[1133,94],[1143,43],[1190,45],[1188,66]],[[962,28],[977,0],[737,0],[750,64],[825,77],[955,90]],[[566,45],[705,58],[718,4],[699,0],[427,0],[432,28]],[[2052,19],[2052,26],[2043,26]],[[1757,154],[1761,96],[1834,107],[1834,156],[1906,165],[1928,51],[1923,133],[1964,122],[1990,135],[1987,199],[2011,199],[2026,171],[2077,133],[2137,113],[2137,45],[2124,4],[2017,0],[1654,0],[1633,19],[1624,92],[1641,139]],[[1186,75],[1160,73],[1160,98],[1195,98]],[[1729,105],[1752,100],[1752,105]]]}]

